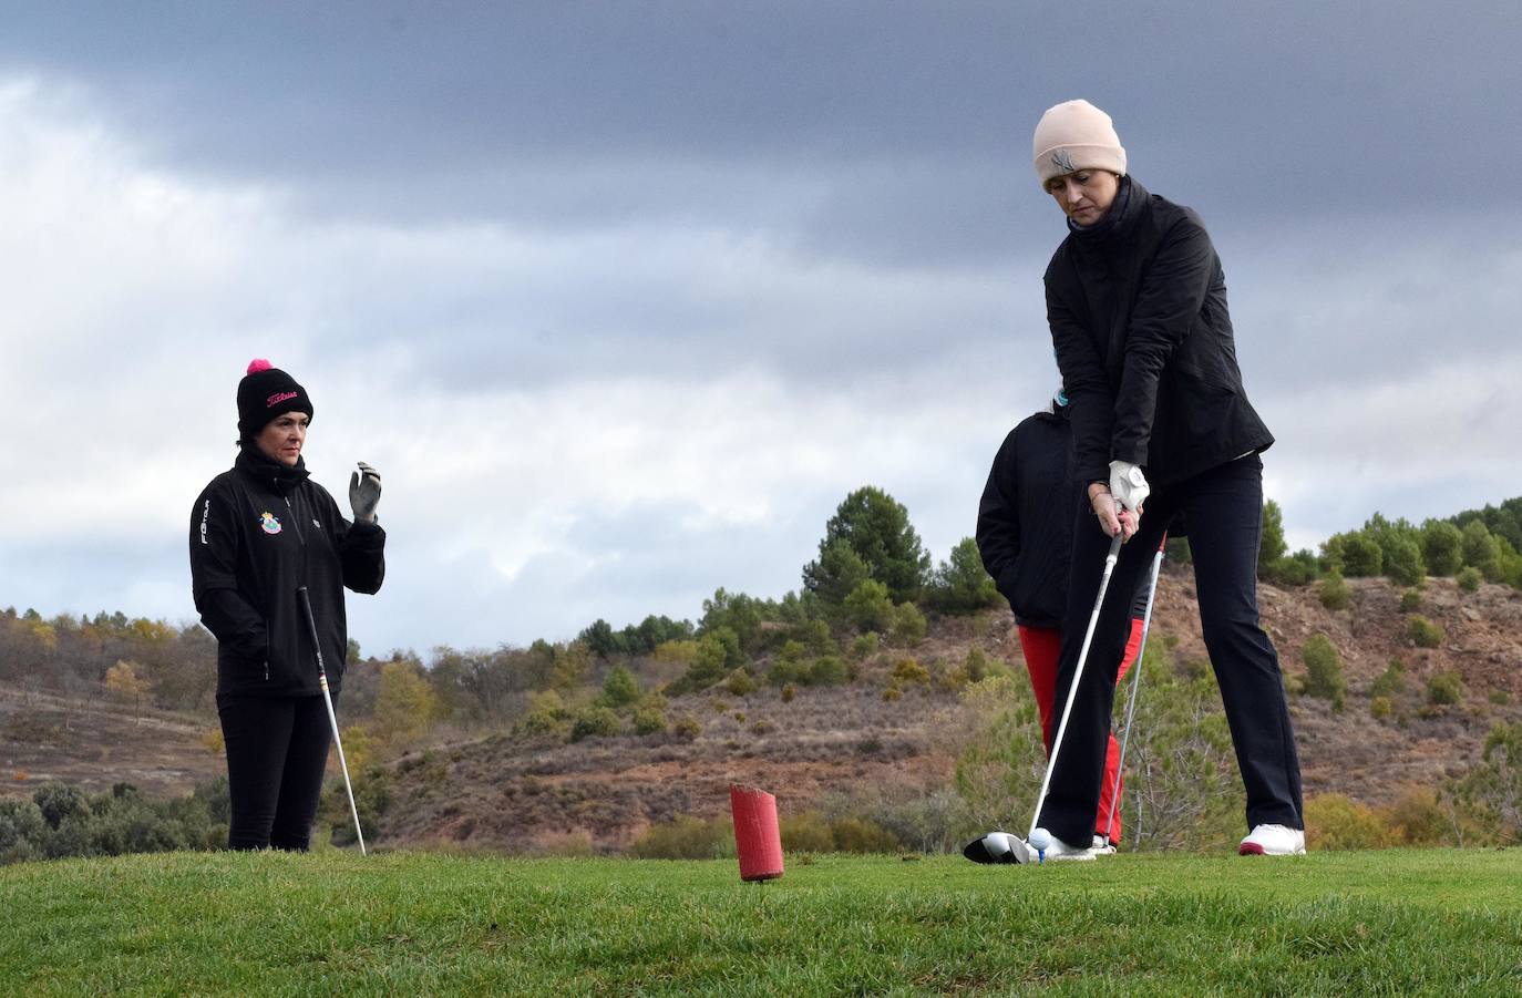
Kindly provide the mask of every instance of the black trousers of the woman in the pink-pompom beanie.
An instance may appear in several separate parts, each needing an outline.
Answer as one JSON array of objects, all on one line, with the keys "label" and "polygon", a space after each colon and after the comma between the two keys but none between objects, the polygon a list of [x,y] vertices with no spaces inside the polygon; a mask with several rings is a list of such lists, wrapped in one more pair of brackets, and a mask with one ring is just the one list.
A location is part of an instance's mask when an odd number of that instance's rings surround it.
[{"label": "black trousers of the woman in the pink-pompom beanie", "polygon": [[218,714],[233,811],[227,847],[306,852],[332,739],[323,698],[230,697]]}]

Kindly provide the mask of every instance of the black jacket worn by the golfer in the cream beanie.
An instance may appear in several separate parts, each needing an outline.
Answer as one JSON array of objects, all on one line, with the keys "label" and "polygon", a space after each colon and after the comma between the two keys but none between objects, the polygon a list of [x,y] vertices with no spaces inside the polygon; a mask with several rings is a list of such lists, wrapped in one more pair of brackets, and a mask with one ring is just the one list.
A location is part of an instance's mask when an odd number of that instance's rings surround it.
[{"label": "black jacket worn by the golfer in the cream beanie", "polygon": [[1242,388],[1225,274],[1193,210],[1123,178],[1106,216],[1056,248],[1046,298],[1079,481],[1108,482],[1120,459],[1157,488],[1274,443]]}]

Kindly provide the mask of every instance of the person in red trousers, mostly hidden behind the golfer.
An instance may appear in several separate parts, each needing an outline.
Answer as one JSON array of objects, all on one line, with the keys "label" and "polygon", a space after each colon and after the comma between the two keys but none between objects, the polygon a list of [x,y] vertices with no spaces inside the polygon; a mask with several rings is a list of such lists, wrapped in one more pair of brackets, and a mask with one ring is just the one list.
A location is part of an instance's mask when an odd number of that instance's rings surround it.
[{"label": "person in red trousers, mostly hidden behind the golfer", "polygon": [[[1015,612],[1020,648],[1041,712],[1047,755],[1052,752],[1058,723],[1056,671],[1073,552],[1071,510],[1081,494],[1082,488],[1073,475],[1073,432],[1067,399],[1058,391],[1050,406],[1023,420],[1005,438],[977,508],[977,549],[983,557],[983,567]],[[1131,634],[1117,683],[1125,679],[1142,648],[1146,599],[1148,586],[1143,584],[1132,602]],[[1114,852],[1110,843],[1120,840],[1120,808],[1114,800],[1119,764],[1120,747],[1111,735],[1094,820],[1096,852]]]}]

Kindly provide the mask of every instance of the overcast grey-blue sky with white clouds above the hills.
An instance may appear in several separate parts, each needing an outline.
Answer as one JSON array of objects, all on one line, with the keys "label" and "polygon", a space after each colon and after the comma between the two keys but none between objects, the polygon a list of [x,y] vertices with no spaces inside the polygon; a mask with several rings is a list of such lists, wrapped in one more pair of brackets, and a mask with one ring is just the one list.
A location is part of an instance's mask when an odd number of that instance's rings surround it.
[{"label": "overcast grey-blue sky with white clouds above the hills", "polygon": [[[1251,9],[1248,9],[1251,6]],[[1056,382],[1041,111],[1222,256],[1294,546],[1522,494],[1522,6],[0,3],[0,607],[195,619],[251,358],[367,651],[781,596],[875,484],[936,560]]]}]

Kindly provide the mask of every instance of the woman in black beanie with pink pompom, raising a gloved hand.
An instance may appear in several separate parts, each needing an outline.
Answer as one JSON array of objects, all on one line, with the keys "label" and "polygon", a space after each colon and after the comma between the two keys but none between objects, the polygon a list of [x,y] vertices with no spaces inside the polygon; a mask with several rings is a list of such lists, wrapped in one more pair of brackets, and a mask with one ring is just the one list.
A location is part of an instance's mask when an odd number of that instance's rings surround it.
[{"label": "woman in black beanie with pink pompom, raising a gloved hand", "polygon": [[250,364],[237,385],[237,459],[190,513],[192,592],[216,636],[230,849],[304,850],[310,841],[330,735],[297,589],[310,596],[336,701],[349,650],[344,587],[374,593],[385,577],[380,475],[359,464],[349,481],[355,519],[345,520],[301,459],[310,421],[295,379],[268,361]]}]

